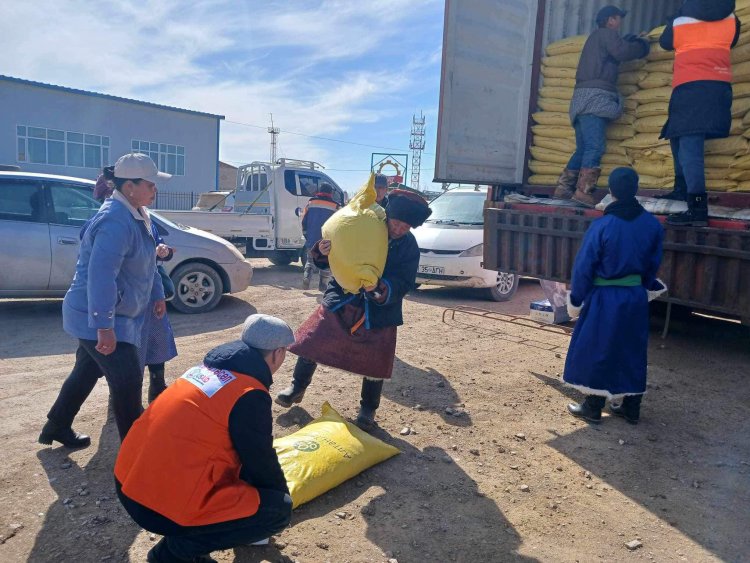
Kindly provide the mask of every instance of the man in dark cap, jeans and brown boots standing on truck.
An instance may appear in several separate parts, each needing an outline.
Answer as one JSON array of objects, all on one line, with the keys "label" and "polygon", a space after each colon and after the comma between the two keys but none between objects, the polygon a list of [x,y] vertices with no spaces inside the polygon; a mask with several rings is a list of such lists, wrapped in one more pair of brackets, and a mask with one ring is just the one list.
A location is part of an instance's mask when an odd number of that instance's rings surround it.
[{"label": "man in dark cap, jeans and brown boots standing on truck", "polygon": [[623,100],[617,91],[620,63],[643,58],[649,52],[646,40],[635,35],[620,37],[626,14],[616,6],[599,10],[596,15],[599,27],[583,47],[570,102],[576,152],[557,181],[557,199],[572,198],[587,207],[596,205],[593,193],[602,171],[602,155],[607,149],[607,124],[618,119],[623,111]]}]

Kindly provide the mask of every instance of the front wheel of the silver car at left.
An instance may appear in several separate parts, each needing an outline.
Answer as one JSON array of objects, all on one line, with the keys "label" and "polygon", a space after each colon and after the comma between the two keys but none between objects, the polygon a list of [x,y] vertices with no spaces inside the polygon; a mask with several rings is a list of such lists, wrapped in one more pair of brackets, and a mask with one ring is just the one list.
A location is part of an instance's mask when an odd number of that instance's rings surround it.
[{"label": "front wheel of the silver car at left", "polygon": [[176,289],[170,303],[181,313],[207,313],[216,307],[224,292],[219,273],[200,262],[183,264],[170,277]]}]

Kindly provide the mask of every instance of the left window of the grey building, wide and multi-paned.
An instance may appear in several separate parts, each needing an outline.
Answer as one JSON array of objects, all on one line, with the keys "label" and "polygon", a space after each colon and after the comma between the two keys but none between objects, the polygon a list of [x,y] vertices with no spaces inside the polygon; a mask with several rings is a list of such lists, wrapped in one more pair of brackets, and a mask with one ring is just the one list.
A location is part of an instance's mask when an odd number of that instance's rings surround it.
[{"label": "left window of the grey building, wide and multi-paned", "polygon": [[28,125],[16,126],[18,162],[80,168],[109,165],[109,137]]}]

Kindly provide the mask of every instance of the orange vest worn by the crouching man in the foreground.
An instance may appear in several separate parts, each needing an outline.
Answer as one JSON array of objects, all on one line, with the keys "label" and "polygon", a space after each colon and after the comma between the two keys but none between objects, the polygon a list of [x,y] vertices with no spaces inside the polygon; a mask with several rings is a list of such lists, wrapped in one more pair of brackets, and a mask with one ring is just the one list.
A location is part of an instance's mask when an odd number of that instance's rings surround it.
[{"label": "orange vest worn by the crouching man in the foreground", "polygon": [[268,389],[249,375],[197,366],[154,401],[128,431],[115,477],[131,500],[181,526],[252,516],[260,497],[240,479],[229,414],[245,393]]}]

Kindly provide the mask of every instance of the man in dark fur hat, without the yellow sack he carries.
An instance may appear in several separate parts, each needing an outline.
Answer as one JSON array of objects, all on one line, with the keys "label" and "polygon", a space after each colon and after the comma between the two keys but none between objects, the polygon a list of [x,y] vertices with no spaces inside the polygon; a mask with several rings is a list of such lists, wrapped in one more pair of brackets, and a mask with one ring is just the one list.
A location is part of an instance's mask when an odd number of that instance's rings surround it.
[{"label": "man in dark fur hat, without the yellow sack he carries", "polygon": [[[430,213],[421,196],[404,190],[391,192],[386,209],[388,255],[380,280],[354,294],[335,279],[328,284],[321,305],[295,333],[289,351],[299,359],[292,385],[276,396],[276,403],[289,408],[301,402],[321,363],[364,376],[355,423],[372,428],[383,381],[393,372],[396,327],[404,323],[403,299],[414,287],[419,266],[419,247],[410,230],[424,223]],[[327,267],[330,252],[328,240],[313,247],[316,266]]]}]

